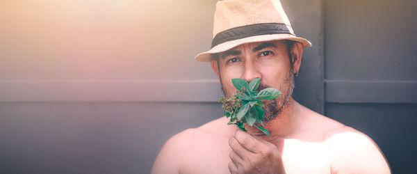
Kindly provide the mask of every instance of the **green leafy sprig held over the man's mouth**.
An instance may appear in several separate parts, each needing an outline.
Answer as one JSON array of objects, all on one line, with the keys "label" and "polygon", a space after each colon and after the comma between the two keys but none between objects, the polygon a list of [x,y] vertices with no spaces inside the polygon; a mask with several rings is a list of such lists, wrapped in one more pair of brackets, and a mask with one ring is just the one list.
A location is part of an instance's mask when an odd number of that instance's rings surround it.
[{"label": "green leafy sprig held over the man's mouth", "polygon": [[[221,96],[219,99],[225,111],[224,116],[230,119],[227,124],[237,125],[239,129],[246,132],[244,125],[246,123],[250,127],[255,126],[271,137],[268,130],[263,128],[265,127],[262,122],[265,105],[262,99],[273,100],[279,97],[281,92],[275,88],[265,88],[259,92],[255,91],[261,84],[260,78],[253,79],[249,83],[244,79],[231,79],[231,82],[239,90],[238,93],[230,98]],[[256,122],[259,122],[261,126],[255,125]]]}]

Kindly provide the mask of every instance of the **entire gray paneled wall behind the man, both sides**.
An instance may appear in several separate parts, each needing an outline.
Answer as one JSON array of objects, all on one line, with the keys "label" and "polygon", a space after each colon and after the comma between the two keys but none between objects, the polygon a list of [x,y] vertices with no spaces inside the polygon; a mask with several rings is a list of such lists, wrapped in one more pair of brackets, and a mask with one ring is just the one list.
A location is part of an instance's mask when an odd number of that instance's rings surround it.
[{"label": "entire gray paneled wall behind the man, both sides", "polygon": [[[415,173],[416,1],[282,1],[304,50],[295,98]],[[149,173],[222,116],[215,1],[0,1],[0,173]]]}]

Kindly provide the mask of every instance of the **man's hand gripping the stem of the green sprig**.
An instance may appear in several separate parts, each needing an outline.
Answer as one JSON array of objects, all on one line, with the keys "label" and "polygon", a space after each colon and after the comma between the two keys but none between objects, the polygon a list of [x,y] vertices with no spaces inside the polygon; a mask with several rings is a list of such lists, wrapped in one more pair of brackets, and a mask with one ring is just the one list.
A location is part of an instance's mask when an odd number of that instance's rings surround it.
[{"label": "man's hand gripping the stem of the green sprig", "polygon": [[285,173],[281,151],[272,143],[238,129],[229,139],[230,173]]}]

